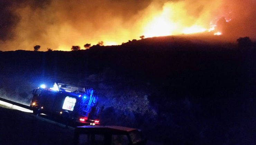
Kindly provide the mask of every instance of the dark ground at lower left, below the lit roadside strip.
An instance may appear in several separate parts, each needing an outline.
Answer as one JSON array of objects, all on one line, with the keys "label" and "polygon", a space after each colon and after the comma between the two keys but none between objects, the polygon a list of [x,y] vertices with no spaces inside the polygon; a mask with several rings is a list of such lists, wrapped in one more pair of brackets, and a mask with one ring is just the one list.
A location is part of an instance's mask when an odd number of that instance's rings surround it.
[{"label": "dark ground at lower left, below the lit roadside strip", "polygon": [[72,145],[74,128],[0,106],[1,145]]}]

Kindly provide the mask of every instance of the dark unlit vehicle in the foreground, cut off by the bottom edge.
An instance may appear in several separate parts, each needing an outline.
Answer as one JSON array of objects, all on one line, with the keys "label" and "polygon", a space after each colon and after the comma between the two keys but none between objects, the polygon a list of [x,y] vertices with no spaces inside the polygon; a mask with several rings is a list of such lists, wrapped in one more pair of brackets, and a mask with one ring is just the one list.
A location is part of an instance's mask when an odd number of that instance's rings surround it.
[{"label": "dark unlit vehicle in the foreground, cut off by the bottom edge", "polygon": [[146,145],[141,131],[121,126],[80,126],[75,128],[75,145]]}]

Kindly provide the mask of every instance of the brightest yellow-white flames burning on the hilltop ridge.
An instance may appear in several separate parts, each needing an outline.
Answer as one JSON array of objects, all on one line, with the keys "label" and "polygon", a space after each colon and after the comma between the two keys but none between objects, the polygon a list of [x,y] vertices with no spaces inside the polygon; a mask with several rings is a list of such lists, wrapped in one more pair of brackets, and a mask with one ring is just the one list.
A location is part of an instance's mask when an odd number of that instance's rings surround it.
[{"label": "brightest yellow-white flames burning on the hilltop ridge", "polygon": [[[146,23],[143,33],[145,37],[178,35],[182,33],[191,34],[215,30],[216,24],[210,25],[209,23],[207,26],[205,25],[205,21],[195,20],[195,18],[187,14],[183,7],[185,6],[182,2],[166,3],[162,12],[159,12],[151,21]],[[227,20],[227,22],[230,20]],[[191,22],[194,22],[192,26],[190,26]],[[221,32],[214,33],[214,35],[221,34]]]}]

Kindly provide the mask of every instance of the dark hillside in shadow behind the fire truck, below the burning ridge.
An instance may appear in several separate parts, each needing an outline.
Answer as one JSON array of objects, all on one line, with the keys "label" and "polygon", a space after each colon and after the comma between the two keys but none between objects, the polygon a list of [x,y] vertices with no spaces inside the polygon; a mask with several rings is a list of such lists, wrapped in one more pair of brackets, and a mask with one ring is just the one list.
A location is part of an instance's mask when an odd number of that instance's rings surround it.
[{"label": "dark hillside in shadow behind the fire truck, below the burning ridge", "polygon": [[[158,37],[79,51],[0,52],[0,95],[29,103],[54,82],[94,87],[104,125],[165,144],[254,144],[256,49]],[[246,139],[244,137],[246,136]]]}]

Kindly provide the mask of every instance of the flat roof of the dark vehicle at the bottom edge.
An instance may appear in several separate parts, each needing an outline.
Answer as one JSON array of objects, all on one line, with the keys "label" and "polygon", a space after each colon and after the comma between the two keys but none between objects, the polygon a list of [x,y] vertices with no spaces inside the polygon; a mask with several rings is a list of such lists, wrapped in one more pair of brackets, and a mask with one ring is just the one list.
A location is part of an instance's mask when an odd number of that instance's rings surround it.
[{"label": "flat roof of the dark vehicle at the bottom edge", "polygon": [[85,125],[76,127],[79,130],[91,130],[91,131],[112,131],[112,132],[131,132],[137,130],[136,128],[129,128],[124,126],[92,126]]}]

